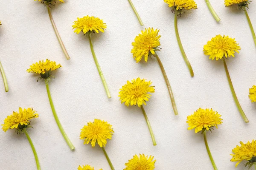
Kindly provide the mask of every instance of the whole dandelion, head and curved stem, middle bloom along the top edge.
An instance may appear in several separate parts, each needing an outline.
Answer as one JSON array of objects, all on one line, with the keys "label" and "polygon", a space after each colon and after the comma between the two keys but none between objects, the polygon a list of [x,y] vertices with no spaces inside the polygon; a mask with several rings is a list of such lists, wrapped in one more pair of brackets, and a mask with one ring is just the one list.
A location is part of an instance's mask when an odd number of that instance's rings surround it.
[{"label": "whole dandelion, head and curved stem, middle bloom along the top edge", "polygon": [[178,32],[177,27],[177,16],[184,13],[185,10],[189,9],[197,9],[197,5],[194,0],[163,0],[165,3],[168,4],[168,6],[172,9],[172,11],[175,13],[174,15],[174,27],[175,27],[175,34],[177,38],[178,45],[180,47],[180,52],[183,56],[183,59],[186,62],[187,67],[189,68],[190,76],[194,77],[194,71],[192,69],[192,66],[189,62],[189,59],[186,57],[185,51],[183,49],[182,43],[180,41],[180,35]]}]

